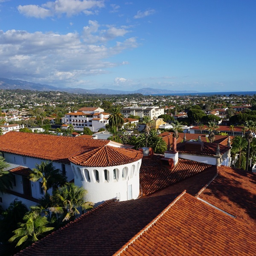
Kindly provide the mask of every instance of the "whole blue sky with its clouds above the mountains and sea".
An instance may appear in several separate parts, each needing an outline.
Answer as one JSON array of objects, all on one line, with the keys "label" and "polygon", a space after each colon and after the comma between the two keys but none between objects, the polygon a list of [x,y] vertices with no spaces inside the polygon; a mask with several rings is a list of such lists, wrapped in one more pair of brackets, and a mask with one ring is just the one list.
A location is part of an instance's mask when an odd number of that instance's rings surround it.
[{"label": "whole blue sky with its clouds above the mountains and sea", "polygon": [[255,12],[255,0],[0,0],[0,77],[87,89],[256,90]]}]

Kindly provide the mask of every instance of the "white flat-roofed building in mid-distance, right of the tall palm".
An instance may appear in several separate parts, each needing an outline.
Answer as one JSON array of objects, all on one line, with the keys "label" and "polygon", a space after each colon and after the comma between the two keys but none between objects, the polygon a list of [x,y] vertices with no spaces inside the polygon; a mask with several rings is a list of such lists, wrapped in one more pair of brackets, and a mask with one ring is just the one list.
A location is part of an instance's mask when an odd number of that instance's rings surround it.
[{"label": "white flat-roofed building in mid-distance, right of the tall palm", "polygon": [[121,109],[121,113],[128,118],[130,115],[140,116],[149,116],[151,119],[157,118],[160,115],[164,114],[164,108],[160,107],[125,107]]}]

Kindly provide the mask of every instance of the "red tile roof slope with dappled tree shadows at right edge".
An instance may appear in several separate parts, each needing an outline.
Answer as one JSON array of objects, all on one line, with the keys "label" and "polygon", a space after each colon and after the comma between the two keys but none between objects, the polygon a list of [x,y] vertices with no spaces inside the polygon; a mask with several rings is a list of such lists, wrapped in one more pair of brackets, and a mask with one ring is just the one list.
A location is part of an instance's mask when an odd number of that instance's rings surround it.
[{"label": "red tile roof slope with dappled tree shadows at right edge", "polygon": [[218,167],[218,176],[198,195],[256,228],[256,173]]}]

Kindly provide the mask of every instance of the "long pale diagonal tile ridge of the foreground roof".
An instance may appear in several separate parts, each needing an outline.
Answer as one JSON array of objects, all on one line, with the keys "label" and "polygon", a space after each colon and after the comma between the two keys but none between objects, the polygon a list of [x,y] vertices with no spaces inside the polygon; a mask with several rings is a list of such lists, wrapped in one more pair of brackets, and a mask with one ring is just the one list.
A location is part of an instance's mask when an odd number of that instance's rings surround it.
[{"label": "long pale diagonal tile ridge of the foreground roof", "polygon": [[129,245],[131,245],[136,239],[138,239],[145,231],[151,228],[185,194],[186,194],[186,190],[184,190],[180,195],[178,195],[175,198],[175,200],[172,201],[165,209],[163,209],[163,211],[160,212],[151,222],[149,222],[142,230],[140,230],[127,243],[125,243],[124,246],[122,246],[118,251],[116,251],[116,253],[114,253],[113,256],[119,256],[124,250],[126,250]]}]

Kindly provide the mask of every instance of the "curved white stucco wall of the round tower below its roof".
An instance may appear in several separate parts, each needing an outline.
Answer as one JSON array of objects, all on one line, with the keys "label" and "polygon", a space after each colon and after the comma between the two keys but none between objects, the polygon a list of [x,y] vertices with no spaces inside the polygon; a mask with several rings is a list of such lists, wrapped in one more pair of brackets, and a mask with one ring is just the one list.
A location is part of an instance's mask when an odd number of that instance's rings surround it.
[{"label": "curved white stucco wall of the round tower below its roof", "polygon": [[[86,201],[97,204],[109,199],[126,201],[136,199],[140,194],[140,166],[141,160],[121,166],[111,167],[84,167],[71,164],[75,176],[75,184],[83,186],[87,190]],[[108,170],[109,178],[105,180],[104,170]],[[113,178],[113,170],[116,169],[116,180]],[[124,177],[122,171],[124,169]],[[99,181],[96,181],[96,170],[99,172]],[[88,179],[87,171],[90,175]],[[129,186],[131,198],[129,198]]]}]

